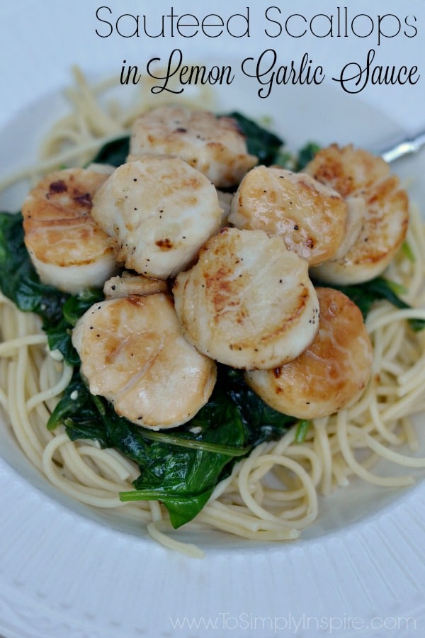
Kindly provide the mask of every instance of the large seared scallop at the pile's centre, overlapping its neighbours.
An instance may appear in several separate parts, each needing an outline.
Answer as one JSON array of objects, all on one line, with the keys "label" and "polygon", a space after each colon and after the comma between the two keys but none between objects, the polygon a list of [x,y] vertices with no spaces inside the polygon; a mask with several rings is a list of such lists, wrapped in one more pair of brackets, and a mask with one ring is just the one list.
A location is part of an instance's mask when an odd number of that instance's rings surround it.
[{"label": "large seared scallop at the pile's centre, overlapping its neighbours", "polygon": [[281,237],[223,228],[174,285],[184,334],[235,368],[288,362],[312,342],[319,306],[308,264]]}]

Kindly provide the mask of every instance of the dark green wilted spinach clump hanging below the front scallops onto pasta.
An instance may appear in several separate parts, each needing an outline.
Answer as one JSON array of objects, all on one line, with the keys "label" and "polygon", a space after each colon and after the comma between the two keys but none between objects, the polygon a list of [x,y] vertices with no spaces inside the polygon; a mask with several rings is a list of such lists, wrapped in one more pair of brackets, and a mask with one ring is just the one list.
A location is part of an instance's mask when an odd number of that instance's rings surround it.
[{"label": "dark green wilted spinach clump hanging below the front scallops onto pasta", "polygon": [[63,423],[72,440],[98,440],[135,461],[140,477],[135,490],[122,493],[121,498],[159,499],[172,525],[179,527],[200,512],[235,461],[259,442],[280,437],[295,422],[260,398],[254,399],[237,375],[238,379],[232,379],[234,371],[220,366],[210,401],[191,421],[172,432],[150,432],[118,416],[103,398],[92,396],[76,371],[47,427],[52,430]]}]

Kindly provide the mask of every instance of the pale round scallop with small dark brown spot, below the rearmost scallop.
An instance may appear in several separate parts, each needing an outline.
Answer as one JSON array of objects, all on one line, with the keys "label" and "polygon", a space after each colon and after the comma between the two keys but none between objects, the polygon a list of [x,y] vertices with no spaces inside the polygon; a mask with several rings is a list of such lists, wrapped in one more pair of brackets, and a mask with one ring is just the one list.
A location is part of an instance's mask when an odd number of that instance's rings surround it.
[{"label": "pale round scallop with small dark brown spot, below the rearmost scallop", "polygon": [[125,267],[167,279],[217,233],[222,209],[211,182],[183,159],[148,155],[113,172],[91,214],[114,238]]}]

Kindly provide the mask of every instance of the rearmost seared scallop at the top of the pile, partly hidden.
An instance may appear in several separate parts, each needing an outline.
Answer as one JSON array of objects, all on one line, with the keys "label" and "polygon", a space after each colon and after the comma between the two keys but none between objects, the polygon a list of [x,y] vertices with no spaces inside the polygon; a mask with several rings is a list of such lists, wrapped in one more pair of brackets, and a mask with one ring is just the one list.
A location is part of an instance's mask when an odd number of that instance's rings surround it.
[{"label": "rearmost seared scallop at the top of the pile, partly hidden", "polygon": [[137,118],[130,155],[177,155],[219,188],[239,184],[257,162],[232,118],[181,106],[161,106]]}]

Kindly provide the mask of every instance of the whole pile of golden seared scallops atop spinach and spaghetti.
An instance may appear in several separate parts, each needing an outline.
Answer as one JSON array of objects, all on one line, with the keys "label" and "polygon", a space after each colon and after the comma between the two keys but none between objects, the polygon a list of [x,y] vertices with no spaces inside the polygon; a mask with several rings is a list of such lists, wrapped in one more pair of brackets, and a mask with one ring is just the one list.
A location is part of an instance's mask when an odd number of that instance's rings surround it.
[{"label": "whole pile of golden seared scallops atop spinach and spaghetti", "polygon": [[[106,300],[81,317],[73,343],[91,393],[142,427],[190,420],[217,363],[302,419],[341,410],[368,383],[361,312],[332,285],[383,272],[407,230],[407,194],[382,159],[351,146],[319,151],[302,173],[257,164],[232,118],[164,106],[137,118],[128,161],[91,187],[84,216],[113,264],[101,276]],[[30,194],[26,242],[40,276],[61,266],[75,293],[75,281],[93,285],[76,276],[79,263],[45,263],[38,250],[46,216],[34,201],[55,200],[50,225],[68,219],[52,192],[61,181],[69,176]],[[79,237],[81,267],[84,245]]]}]

